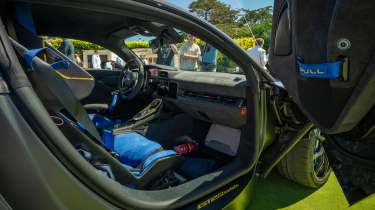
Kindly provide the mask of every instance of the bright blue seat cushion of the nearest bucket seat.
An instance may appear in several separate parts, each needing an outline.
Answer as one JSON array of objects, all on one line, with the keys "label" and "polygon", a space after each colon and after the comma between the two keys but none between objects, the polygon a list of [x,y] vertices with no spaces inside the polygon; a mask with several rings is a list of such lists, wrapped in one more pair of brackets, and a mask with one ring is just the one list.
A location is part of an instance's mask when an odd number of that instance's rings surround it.
[{"label": "bright blue seat cushion of the nearest bucket seat", "polygon": [[[128,166],[137,167],[148,157],[162,150],[160,144],[136,133],[112,135],[112,132],[103,132],[103,142],[108,149],[119,155],[119,160]],[[145,164],[143,164],[145,165]]]}]

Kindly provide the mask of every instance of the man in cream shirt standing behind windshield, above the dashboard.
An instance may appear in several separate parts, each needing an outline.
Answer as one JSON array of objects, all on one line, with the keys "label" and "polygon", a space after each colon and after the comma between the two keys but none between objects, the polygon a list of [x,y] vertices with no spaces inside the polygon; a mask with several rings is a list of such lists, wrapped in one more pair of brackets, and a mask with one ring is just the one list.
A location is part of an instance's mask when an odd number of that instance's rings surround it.
[{"label": "man in cream shirt standing behind windshield, above the dashboard", "polygon": [[187,42],[180,48],[180,69],[184,71],[197,71],[198,60],[201,56],[201,50],[194,43],[195,37],[191,34],[187,35]]}]

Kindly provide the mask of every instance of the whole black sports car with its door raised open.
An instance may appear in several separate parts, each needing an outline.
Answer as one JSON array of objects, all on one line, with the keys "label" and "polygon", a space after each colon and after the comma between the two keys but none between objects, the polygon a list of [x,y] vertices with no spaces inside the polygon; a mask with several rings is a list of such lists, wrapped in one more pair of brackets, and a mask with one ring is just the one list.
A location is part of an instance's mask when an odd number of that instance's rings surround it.
[{"label": "whole black sports car with its door raised open", "polygon": [[[374,7],[275,1],[266,71],[164,1],[1,1],[1,208],[245,207],[254,177],[275,167],[313,188],[333,169],[350,203],[367,197]],[[140,56],[132,36],[152,49]],[[126,65],[82,68],[46,37],[95,43]]]}]

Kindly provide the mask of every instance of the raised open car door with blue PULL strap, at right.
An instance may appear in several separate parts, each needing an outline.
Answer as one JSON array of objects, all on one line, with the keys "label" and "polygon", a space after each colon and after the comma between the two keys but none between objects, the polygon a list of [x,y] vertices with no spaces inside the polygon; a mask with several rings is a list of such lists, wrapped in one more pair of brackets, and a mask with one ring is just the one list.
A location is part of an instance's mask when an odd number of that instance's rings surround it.
[{"label": "raised open car door with blue PULL strap, at right", "polygon": [[345,195],[375,192],[375,2],[275,0],[270,70],[316,126]]}]

